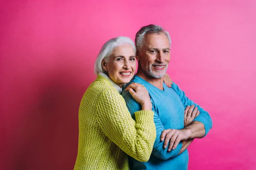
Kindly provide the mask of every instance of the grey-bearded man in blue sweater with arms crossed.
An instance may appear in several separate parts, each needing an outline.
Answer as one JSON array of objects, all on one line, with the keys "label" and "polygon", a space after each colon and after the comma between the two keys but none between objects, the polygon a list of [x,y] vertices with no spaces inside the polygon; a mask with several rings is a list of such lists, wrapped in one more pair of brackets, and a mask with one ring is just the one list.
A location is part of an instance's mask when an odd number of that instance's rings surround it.
[{"label": "grey-bearded man in blue sweater with arms crossed", "polygon": [[[207,135],[212,128],[212,120],[209,113],[186,97],[175,83],[168,88],[163,82],[170,61],[169,33],[157,25],[144,26],[137,32],[135,43],[138,71],[122,96],[135,119],[134,112],[140,111],[141,105],[127,90],[136,83],[145,86],[151,97],[157,137],[149,161],[130,158],[130,166],[134,170],[187,170],[189,154],[186,148],[193,139]],[[189,106],[192,110],[195,106],[193,112]]]}]

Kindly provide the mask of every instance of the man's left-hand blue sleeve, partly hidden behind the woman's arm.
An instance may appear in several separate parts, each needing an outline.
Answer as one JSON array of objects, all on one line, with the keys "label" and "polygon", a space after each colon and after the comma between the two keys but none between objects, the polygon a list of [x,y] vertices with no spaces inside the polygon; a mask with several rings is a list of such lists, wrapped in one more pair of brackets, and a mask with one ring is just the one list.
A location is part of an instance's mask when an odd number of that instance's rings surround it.
[{"label": "man's left-hand blue sleeve, partly hidden behind the woman's arm", "polygon": [[[123,92],[122,96],[125,99],[127,108],[129,110],[129,112],[131,113],[132,118],[135,119],[134,112],[141,110],[140,103],[138,103],[136,100],[134,100],[134,98],[131,96],[130,93]],[[152,111],[154,111],[154,123],[155,123],[156,131],[157,131],[157,136],[156,136],[156,139],[154,142],[152,154],[162,160],[173,158],[180,153],[182,143],[180,142],[175,150],[167,151],[168,147],[163,148],[164,141],[161,142],[160,136],[162,134],[162,131],[164,130],[164,127],[159,119],[157,112],[154,109],[154,103],[152,102],[152,100],[151,100],[151,103],[152,103]],[[169,146],[169,143],[167,146]]]}]

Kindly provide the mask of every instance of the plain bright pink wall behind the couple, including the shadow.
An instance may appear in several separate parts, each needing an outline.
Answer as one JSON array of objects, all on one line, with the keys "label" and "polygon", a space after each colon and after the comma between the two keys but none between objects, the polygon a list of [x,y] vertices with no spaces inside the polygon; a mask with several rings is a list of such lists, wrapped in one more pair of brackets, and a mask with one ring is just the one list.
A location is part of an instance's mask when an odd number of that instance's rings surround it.
[{"label": "plain bright pink wall behind the couple, including the shadow", "polygon": [[171,35],[172,80],[212,116],[189,170],[256,169],[255,0],[0,0],[0,169],[73,169],[99,49],[151,23]]}]

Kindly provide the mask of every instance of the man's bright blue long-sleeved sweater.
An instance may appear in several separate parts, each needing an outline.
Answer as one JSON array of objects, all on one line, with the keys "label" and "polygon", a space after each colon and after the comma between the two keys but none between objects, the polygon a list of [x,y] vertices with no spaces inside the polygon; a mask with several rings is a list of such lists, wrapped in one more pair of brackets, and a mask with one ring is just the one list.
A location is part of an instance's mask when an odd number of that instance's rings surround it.
[{"label": "man's bright blue long-sleeved sweater", "polygon": [[[179,154],[182,146],[180,142],[175,150],[167,151],[168,147],[164,149],[163,142],[160,140],[161,133],[165,129],[183,129],[184,109],[187,105],[194,104],[198,106],[198,110],[200,111],[200,114],[194,121],[204,124],[206,135],[212,128],[212,119],[209,113],[186,97],[185,93],[174,82],[172,88],[168,88],[163,83],[163,91],[138,76],[134,76],[131,82],[140,83],[148,90],[152,102],[152,111],[154,111],[157,137],[149,161],[140,162],[130,158],[130,166],[133,166],[134,170],[187,170],[189,161],[188,150],[186,149],[183,153]],[[134,100],[128,91],[123,91],[122,96],[125,99],[132,118],[135,120],[134,112],[140,111],[141,105]]]}]

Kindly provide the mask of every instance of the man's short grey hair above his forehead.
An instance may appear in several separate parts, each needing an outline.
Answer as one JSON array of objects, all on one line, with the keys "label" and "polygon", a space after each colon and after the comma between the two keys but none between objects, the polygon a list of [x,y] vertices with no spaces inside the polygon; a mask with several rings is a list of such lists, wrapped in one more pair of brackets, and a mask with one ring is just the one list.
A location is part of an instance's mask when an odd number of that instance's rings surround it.
[{"label": "man's short grey hair above his forehead", "polygon": [[140,28],[140,30],[136,33],[135,36],[135,44],[136,44],[136,48],[137,50],[141,50],[141,48],[143,47],[144,43],[145,43],[145,36],[148,34],[160,34],[163,33],[166,35],[166,37],[169,40],[169,44],[171,46],[172,41],[169,35],[169,32],[167,32],[165,29],[163,29],[163,27],[161,26],[157,26],[157,25],[153,25],[150,24],[148,26],[143,26]]}]

